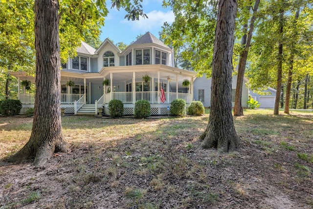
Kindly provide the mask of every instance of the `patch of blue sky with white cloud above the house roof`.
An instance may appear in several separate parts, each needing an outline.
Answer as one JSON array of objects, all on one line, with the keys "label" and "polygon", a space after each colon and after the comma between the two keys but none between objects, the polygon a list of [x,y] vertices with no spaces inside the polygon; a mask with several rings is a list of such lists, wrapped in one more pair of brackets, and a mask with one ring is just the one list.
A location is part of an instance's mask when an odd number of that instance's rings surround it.
[{"label": "patch of blue sky with white cloud above the house roof", "polygon": [[123,9],[120,11],[117,11],[115,7],[111,9],[111,3],[108,3],[109,14],[105,19],[105,25],[101,28],[100,40],[110,38],[114,44],[124,42],[129,45],[135,41],[137,35],[145,34],[147,31],[158,38],[158,31],[161,31],[163,23],[174,21],[171,8],[163,8],[162,0],[143,0],[142,7],[148,19],[140,17],[139,21],[128,21],[124,19],[126,12]]}]

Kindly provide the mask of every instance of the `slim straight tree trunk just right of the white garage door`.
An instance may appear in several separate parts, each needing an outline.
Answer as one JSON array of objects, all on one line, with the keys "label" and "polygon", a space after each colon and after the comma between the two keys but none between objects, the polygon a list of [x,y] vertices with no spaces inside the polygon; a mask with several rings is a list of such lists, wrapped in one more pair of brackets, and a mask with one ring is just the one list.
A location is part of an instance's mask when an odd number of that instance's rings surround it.
[{"label": "slim straight tree trunk just right of the white garage door", "polygon": [[277,56],[277,86],[276,86],[276,97],[274,105],[274,115],[279,114],[279,100],[282,86],[282,74],[283,74],[283,27],[284,27],[284,11],[279,11],[279,43],[278,43],[278,56]]}]

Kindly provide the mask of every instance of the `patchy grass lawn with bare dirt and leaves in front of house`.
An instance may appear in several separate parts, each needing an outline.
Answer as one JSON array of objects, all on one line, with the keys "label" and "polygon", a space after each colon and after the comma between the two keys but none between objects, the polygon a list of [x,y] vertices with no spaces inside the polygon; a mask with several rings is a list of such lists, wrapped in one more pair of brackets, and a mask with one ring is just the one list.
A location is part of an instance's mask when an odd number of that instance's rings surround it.
[{"label": "patchy grass lawn with bare dirt and leaves in front of house", "polygon": [[[0,209],[313,208],[313,113],[234,117],[240,149],[201,148],[208,115],[64,116],[70,153],[44,167],[0,161]],[[0,158],[22,148],[31,117],[0,117]]]}]

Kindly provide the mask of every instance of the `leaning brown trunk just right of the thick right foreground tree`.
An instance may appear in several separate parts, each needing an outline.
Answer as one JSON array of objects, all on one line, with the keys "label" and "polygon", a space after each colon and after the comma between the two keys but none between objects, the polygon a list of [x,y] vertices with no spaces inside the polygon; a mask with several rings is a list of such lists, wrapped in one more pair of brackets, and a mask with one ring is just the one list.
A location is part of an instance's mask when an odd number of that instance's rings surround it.
[{"label": "leaning brown trunk just right of the thick right foreground tree", "polygon": [[246,35],[244,35],[242,38],[242,45],[245,45],[245,49],[239,58],[235,106],[234,106],[234,116],[243,116],[244,115],[243,107],[241,106],[241,103],[242,103],[241,97],[242,97],[242,91],[243,91],[246,59],[248,57],[248,51],[249,51],[249,47],[250,47],[250,43],[251,43],[254,21],[256,19],[256,12],[257,12],[258,7],[259,7],[259,2],[260,2],[260,0],[256,0],[255,4],[254,4],[253,14],[252,14],[251,21],[250,21],[248,36],[246,37]]}]

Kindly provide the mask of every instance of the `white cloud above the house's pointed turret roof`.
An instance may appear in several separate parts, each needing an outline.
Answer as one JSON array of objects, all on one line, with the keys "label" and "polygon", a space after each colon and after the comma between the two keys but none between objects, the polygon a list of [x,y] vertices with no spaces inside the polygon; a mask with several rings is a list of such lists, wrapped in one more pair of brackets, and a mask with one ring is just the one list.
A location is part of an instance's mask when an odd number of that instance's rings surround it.
[{"label": "white cloud above the house's pointed turret roof", "polygon": [[128,21],[127,19],[121,21],[123,24],[128,24],[131,26],[134,31],[150,31],[157,27],[161,27],[164,22],[173,23],[175,20],[174,14],[172,11],[162,12],[153,10],[147,13],[148,18],[143,19],[139,17],[139,21]]}]

